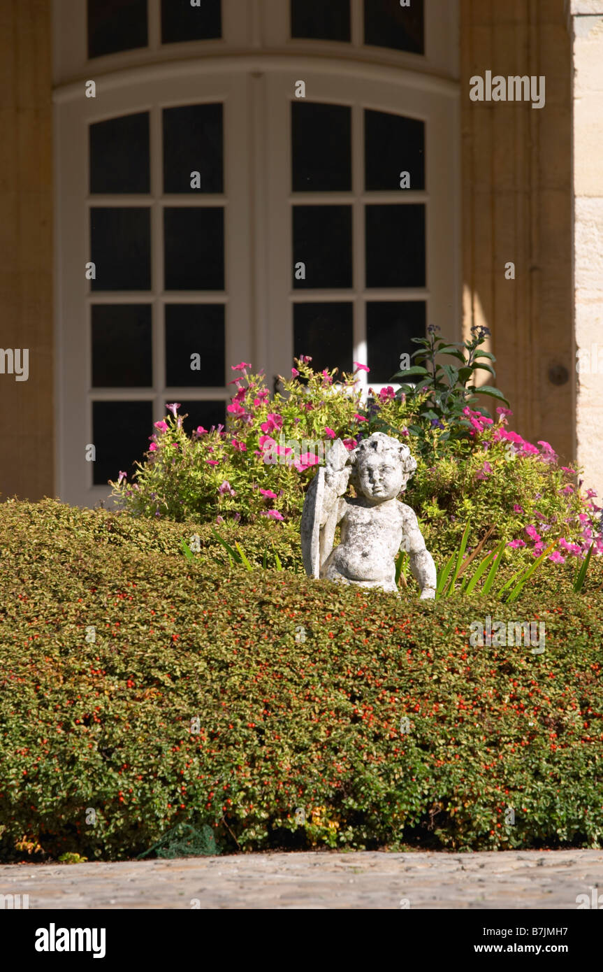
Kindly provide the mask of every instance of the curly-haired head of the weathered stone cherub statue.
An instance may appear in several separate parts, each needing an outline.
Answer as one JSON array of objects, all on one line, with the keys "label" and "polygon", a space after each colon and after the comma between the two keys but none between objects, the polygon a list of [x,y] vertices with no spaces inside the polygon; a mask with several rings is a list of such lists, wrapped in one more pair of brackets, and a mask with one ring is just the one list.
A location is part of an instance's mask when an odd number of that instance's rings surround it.
[{"label": "curly-haired head of the weathered stone cherub statue", "polygon": [[417,469],[408,445],[383,432],[362,439],[349,463],[352,486],[372,503],[395,500]]}]

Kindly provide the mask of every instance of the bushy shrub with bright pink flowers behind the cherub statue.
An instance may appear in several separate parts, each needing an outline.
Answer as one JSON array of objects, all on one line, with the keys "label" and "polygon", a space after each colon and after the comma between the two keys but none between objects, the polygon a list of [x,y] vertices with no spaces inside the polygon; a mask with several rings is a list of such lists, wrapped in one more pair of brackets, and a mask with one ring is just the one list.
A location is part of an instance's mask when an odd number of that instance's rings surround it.
[{"label": "bushy shrub with bright pink flowers behind the cherub statue", "polygon": [[[476,335],[469,354],[479,353],[481,339]],[[449,413],[442,406],[432,419],[425,388],[409,386],[408,395],[398,396],[385,388],[363,401],[357,370],[337,380],[336,371],[313,371],[307,358],[283,379],[282,394],[271,397],[263,375],[250,367],[233,367],[227,429],[199,427],[189,437],[176,402],[155,423],[135,481],[121,473],[114,484],[128,512],[181,522],[285,522],[297,529],[305,489],[329,443],[340,437],[352,449],[384,431],[406,439],[416,455],[405,499],[417,510],[439,566],[469,519],[469,552],[488,530],[491,544],[506,540],[519,563],[538,557],[553,539],[559,544],[551,559],[559,564],[584,558],[591,543],[594,553],[603,551],[595,494],[582,490],[577,470],[558,465],[548,442],[533,445],[509,430],[511,409],[499,405],[491,418],[462,399],[453,399],[453,407],[447,399]]]}]

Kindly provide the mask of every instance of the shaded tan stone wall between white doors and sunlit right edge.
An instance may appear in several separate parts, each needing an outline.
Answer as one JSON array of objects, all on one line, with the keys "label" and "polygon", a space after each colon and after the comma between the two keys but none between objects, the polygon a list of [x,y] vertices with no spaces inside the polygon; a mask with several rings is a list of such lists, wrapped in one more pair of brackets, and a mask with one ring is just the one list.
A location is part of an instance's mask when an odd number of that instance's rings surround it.
[{"label": "shaded tan stone wall between white doors and sunlit right edge", "polygon": [[[463,329],[492,331],[513,428],[575,454],[571,46],[563,0],[461,0]],[[545,76],[545,105],[470,79]],[[505,264],[515,263],[515,280]],[[486,376],[485,376],[486,379]]]}]

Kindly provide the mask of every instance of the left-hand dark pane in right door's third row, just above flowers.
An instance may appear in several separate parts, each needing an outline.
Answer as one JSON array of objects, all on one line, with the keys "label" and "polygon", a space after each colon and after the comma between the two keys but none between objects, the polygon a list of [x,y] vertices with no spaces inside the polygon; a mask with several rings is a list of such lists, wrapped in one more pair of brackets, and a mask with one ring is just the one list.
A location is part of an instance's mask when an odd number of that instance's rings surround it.
[{"label": "left-hand dark pane in right door's third row, just above flowers", "polygon": [[293,357],[310,355],[315,370],[338,367],[352,372],[352,303],[298,303],[293,306]]}]

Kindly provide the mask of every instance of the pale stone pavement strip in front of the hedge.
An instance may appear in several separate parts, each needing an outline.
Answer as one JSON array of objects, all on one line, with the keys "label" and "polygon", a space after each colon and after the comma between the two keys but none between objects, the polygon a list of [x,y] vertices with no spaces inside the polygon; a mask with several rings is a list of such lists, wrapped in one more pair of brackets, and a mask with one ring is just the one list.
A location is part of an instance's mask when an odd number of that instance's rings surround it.
[{"label": "pale stone pavement strip in front of the hedge", "polygon": [[[6,864],[29,908],[576,909],[603,851],[252,853],[124,863]],[[6,906],[6,905],[5,905]]]}]

